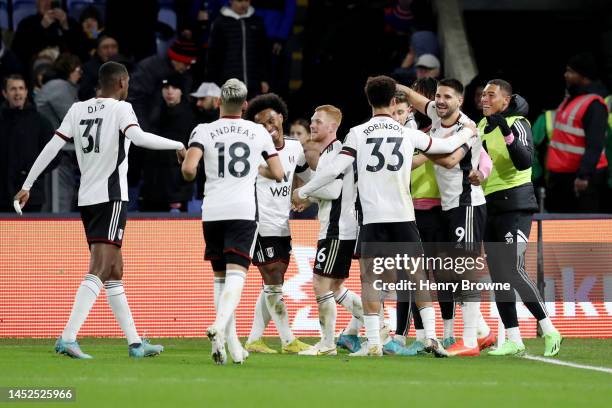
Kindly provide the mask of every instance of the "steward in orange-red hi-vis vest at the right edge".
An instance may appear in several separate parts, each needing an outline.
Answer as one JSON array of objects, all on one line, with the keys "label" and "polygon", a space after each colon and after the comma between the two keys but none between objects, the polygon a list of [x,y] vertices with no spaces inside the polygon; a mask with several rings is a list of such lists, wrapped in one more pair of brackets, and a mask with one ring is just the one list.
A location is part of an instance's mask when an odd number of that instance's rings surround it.
[{"label": "steward in orange-red hi-vis vest at the right edge", "polygon": [[546,168],[550,212],[597,213],[603,210],[608,160],[607,91],[598,80],[592,54],[573,56],[565,69],[568,96],[557,108]]}]

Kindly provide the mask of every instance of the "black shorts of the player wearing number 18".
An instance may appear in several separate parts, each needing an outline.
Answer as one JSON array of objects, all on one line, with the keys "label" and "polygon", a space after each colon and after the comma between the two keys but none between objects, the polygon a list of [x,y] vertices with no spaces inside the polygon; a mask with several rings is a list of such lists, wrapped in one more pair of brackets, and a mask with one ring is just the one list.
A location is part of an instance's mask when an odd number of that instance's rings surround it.
[{"label": "black shorts of the player wearing number 18", "polygon": [[204,259],[214,271],[224,271],[228,263],[248,268],[257,239],[257,222],[251,220],[203,221]]}]

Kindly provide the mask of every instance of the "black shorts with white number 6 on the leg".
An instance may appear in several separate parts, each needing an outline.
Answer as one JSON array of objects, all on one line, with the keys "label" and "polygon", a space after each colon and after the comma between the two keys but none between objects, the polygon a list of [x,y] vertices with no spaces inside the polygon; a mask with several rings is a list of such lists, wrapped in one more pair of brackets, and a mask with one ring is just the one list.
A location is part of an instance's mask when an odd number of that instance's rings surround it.
[{"label": "black shorts with white number 6 on the leg", "polygon": [[326,278],[348,278],[355,251],[355,242],[354,239],[319,240],[312,272]]}]

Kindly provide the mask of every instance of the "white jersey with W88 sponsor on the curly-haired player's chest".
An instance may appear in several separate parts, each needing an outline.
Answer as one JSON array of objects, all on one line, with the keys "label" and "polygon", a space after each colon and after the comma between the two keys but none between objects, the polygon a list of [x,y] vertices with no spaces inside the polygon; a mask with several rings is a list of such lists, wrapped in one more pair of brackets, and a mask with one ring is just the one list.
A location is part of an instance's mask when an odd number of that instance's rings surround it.
[{"label": "white jersey with W88 sponsor on the curly-haired player's chest", "polygon": [[291,211],[291,187],[293,175],[308,168],[302,144],[285,137],[285,144],[278,151],[285,177],[277,182],[257,176],[257,206],[259,208],[259,235],[262,237],[287,237]]}]

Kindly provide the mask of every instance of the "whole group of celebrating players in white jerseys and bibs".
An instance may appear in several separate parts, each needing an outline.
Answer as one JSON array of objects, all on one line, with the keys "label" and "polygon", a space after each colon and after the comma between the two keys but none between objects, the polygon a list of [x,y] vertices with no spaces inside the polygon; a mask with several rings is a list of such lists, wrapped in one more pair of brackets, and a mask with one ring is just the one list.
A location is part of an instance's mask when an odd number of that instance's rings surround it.
[{"label": "whole group of celebrating players in white jerseys and bibs", "polygon": [[[512,94],[510,84],[489,82],[483,93],[485,118],[477,126],[459,110],[463,101],[459,81],[424,79],[408,88],[389,77],[370,78],[365,93],[372,118],[353,127],[341,143],[336,139],[342,120],[338,108],[316,108],[310,138],[300,142],[284,135],[288,112],[282,99],[264,94],[247,102],[246,86],[231,79],[221,88],[220,119],[198,125],[186,150],[180,142],[140,130],[131,106],[124,102],[128,83],[120,64],[100,68],[98,97],[73,105],[15,197],[23,207],[30,187],[61,147],[66,142],[75,144],[82,174],[79,209],[91,262],[56,342],[58,353],[91,358],[81,350],[76,336],[103,287],[126,334],[129,355],[144,357],[163,351],[161,345],[138,335],[121,281],[130,142],[176,150],[186,180],[196,177],[204,161],[202,224],[205,259],[214,271],[216,309],[207,336],[215,363],[227,362],[226,345],[234,363],[244,362],[249,352],[277,353],[262,337],[270,320],[278,330],[281,352],[299,355],[336,355],[337,348],[343,347],[350,356],[426,352],[437,357],[477,356],[495,343],[480,313],[476,291],[440,297],[444,319],[440,341],[430,299],[420,296],[413,302],[398,302],[397,330],[390,336],[381,318],[383,299],[365,296],[371,286],[366,271],[361,271],[361,296],[343,282],[353,257],[369,253],[368,245],[422,241],[480,248],[483,241],[527,242],[536,209],[530,182],[533,143],[524,117],[526,103]],[[291,332],[282,288],[291,254],[290,210],[302,211],[312,203],[318,204],[320,221],[313,289],[321,339],[308,345]],[[510,274],[496,274],[495,256],[489,254],[491,278],[510,283],[522,299],[532,300],[525,305],[541,327],[544,355],[554,356],[562,337],[525,271],[521,252],[525,247],[516,248],[516,267]],[[243,346],[234,312],[251,262],[261,273],[263,288]],[[430,272],[439,279],[436,271]],[[507,294],[503,300],[497,308],[508,339],[489,354],[521,354],[525,346],[515,301]],[[455,303],[461,304],[463,316],[463,336],[458,341],[453,327]],[[336,339],[337,304],[352,318]],[[407,346],[411,315],[416,341]],[[362,327],[363,343],[359,339]]]}]

